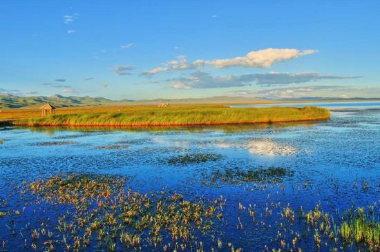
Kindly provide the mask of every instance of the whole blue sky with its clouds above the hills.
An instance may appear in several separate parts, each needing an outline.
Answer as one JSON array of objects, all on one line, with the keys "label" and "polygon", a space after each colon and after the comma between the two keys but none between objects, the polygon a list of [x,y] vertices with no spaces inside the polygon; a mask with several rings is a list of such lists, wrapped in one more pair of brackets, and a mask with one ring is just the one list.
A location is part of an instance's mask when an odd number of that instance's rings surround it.
[{"label": "whole blue sky with its clouds above the hills", "polygon": [[0,2],[0,93],[380,97],[380,1]]}]

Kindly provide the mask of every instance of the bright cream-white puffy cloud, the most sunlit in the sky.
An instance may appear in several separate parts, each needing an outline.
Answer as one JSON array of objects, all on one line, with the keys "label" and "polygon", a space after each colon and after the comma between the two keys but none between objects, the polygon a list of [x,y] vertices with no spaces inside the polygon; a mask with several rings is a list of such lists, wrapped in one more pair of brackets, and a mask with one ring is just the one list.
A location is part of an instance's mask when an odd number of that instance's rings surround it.
[{"label": "bright cream-white puffy cloud, the most sunlit in the sky", "polygon": [[142,72],[142,75],[155,75],[158,72],[166,72],[171,70],[189,70],[194,68],[202,68],[204,66],[213,66],[215,68],[229,68],[240,66],[245,68],[269,68],[275,62],[296,59],[301,56],[311,55],[316,50],[298,50],[298,49],[276,49],[267,48],[264,50],[251,51],[243,57],[234,57],[227,59],[204,60],[197,59],[189,62],[185,56],[178,56],[176,60],[168,61],[164,66],[153,68]]}]

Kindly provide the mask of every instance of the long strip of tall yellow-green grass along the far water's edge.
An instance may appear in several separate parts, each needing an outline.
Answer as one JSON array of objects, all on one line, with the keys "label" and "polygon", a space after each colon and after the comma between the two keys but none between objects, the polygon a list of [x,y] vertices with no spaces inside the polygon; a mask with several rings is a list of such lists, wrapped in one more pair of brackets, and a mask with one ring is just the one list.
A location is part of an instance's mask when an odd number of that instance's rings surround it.
[{"label": "long strip of tall yellow-green grass along the far water's edge", "polygon": [[228,108],[225,106],[138,106],[120,112],[81,112],[23,119],[15,125],[27,126],[191,126],[252,124],[329,119],[324,108]]}]

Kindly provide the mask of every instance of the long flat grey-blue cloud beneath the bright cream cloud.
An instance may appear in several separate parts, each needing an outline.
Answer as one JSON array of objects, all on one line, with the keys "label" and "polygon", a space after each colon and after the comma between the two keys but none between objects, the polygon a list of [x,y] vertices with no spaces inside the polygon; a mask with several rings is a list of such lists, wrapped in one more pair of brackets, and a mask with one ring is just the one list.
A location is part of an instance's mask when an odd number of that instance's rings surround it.
[{"label": "long flat grey-blue cloud beneath the bright cream cloud", "polygon": [[287,73],[269,72],[265,74],[229,75],[213,77],[207,72],[193,72],[178,78],[167,79],[172,88],[230,88],[251,86],[285,86],[322,79],[353,79],[356,76],[320,75],[317,72]]}]

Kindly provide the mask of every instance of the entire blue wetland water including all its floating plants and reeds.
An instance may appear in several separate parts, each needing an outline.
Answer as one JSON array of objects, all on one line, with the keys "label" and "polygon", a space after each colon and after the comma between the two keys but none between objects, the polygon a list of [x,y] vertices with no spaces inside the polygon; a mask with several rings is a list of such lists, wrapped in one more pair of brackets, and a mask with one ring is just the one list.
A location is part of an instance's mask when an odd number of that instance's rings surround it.
[{"label": "entire blue wetland water including all its floating plants and reeds", "polygon": [[0,251],[379,251],[380,110],[0,130]]}]

